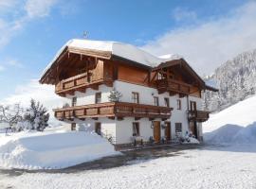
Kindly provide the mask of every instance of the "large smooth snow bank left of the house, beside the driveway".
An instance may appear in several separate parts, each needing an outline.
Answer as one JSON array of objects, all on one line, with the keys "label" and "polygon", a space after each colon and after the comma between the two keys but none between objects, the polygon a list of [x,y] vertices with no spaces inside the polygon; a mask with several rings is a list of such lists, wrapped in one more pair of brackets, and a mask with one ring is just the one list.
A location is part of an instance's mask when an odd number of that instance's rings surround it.
[{"label": "large smooth snow bank left of the house, beside the driveway", "polygon": [[119,154],[95,133],[82,131],[20,132],[0,135],[0,167],[64,168]]}]

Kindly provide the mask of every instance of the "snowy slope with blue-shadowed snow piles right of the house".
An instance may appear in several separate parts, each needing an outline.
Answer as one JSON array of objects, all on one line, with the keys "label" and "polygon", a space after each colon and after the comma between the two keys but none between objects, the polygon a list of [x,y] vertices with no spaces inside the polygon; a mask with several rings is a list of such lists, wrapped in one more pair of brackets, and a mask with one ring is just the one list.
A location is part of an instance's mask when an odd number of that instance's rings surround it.
[{"label": "snowy slope with blue-shadowed snow piles right of the house", "polygon": [[203,124],[204,140],[212,144],[256,144],[256,96],[211,114]]}]

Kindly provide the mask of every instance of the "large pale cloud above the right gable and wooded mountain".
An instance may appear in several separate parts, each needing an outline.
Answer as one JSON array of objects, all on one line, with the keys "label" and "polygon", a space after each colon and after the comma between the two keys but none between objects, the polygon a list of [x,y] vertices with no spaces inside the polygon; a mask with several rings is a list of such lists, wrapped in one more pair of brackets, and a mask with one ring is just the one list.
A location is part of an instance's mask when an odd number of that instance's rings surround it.
[{"label": "large pale cloud above the right gable and wooded mountain", "polygon": [[142,46],[154,53],[180,54],[199,74],[210,74],[239,53],[256,48],[256,2],[208,23],[166,32]]}]

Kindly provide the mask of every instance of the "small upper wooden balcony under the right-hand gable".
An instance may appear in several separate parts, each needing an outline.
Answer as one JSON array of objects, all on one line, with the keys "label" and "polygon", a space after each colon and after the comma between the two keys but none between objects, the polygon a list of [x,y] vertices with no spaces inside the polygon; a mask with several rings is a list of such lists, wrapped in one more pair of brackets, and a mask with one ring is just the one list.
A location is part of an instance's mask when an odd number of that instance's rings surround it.
[{"label": "small upper wooden balcony under the right-hand gable", "polygon": [[156,87],[159,94],[164,92],[176,94],[190,94],[192,85],[175,79],[158,79],[156,80]]}]

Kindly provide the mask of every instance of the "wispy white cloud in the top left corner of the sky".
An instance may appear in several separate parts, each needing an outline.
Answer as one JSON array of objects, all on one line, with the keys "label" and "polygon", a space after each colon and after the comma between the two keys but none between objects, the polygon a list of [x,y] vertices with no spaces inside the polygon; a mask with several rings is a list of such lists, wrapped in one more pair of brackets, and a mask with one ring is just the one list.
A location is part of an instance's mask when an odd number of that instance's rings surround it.
[{"label": "wispy white cloud in the top left corner of the sky", "polygon": [[29,22],[45,17],[58,0],[0,0],[0,49]]}]

